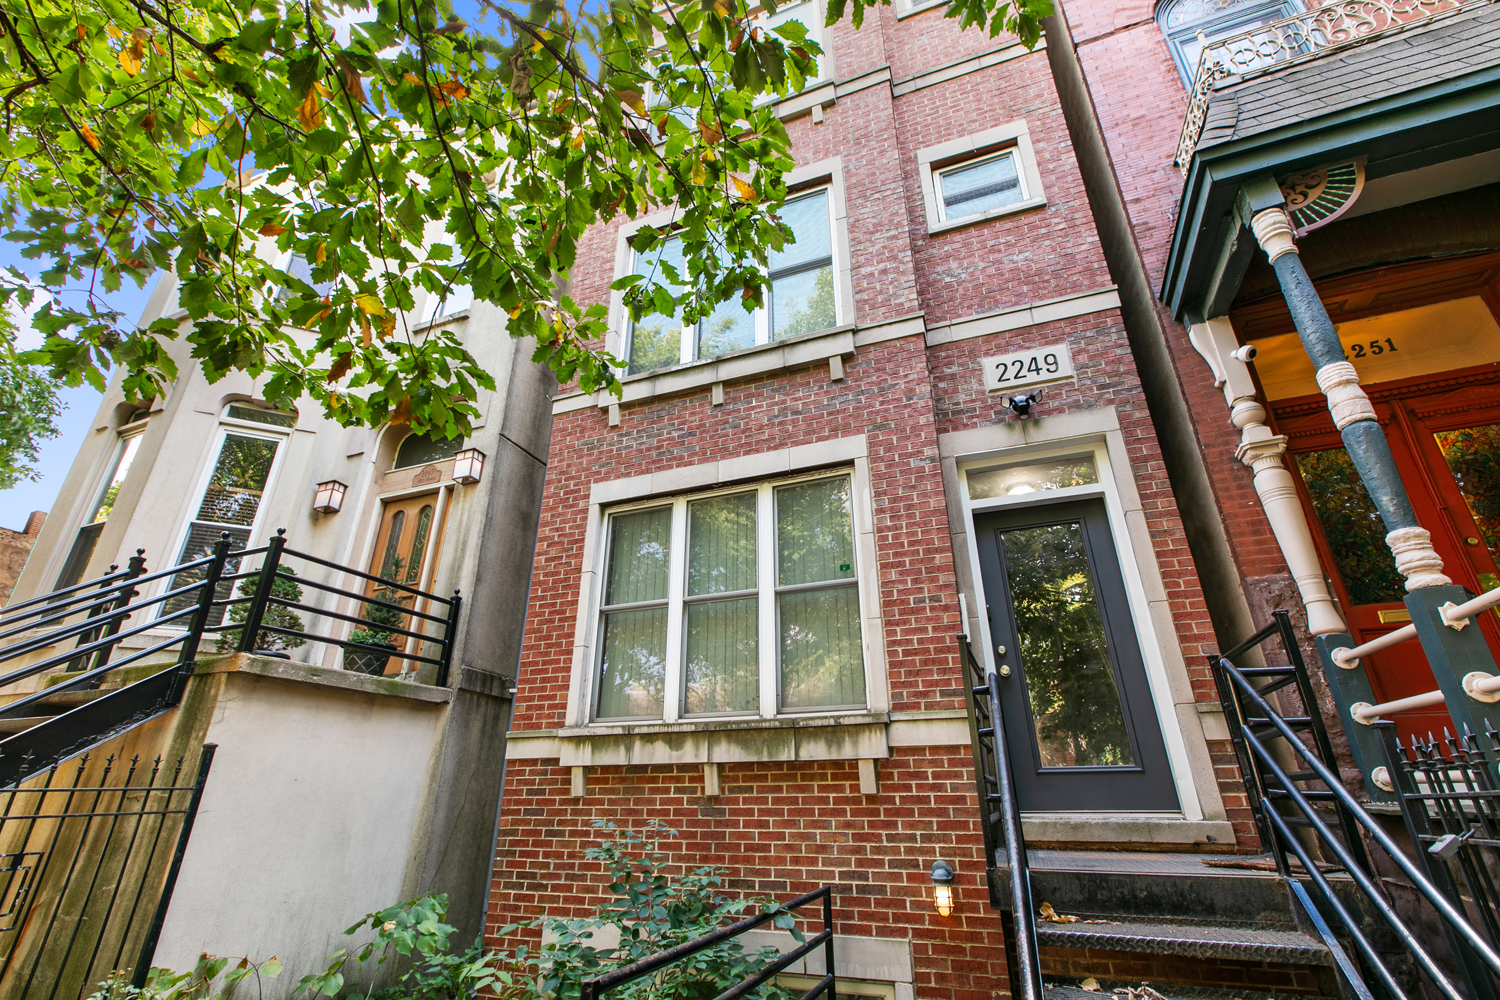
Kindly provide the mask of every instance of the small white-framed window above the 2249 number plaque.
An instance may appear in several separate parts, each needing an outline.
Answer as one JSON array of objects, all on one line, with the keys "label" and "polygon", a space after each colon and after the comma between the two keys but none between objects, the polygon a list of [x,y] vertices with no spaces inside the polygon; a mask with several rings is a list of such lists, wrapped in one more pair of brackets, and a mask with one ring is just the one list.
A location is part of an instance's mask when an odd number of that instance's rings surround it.
[{"label": "small white-framed window above the 2249 number plaque", "polygon": [[916,166],[928,235],[1047,204],[1024,121],[930,145]]}]

